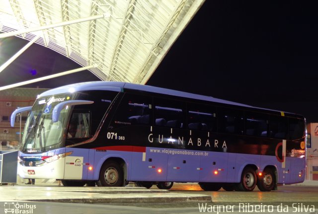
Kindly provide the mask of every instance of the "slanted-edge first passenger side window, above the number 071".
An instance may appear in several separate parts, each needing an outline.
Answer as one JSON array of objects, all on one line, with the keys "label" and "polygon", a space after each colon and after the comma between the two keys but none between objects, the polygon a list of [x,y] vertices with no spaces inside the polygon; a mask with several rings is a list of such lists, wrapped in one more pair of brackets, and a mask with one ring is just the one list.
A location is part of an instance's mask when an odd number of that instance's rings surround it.
[{"label": "slanted-edge first passenger side window, above the number 071", "polygon": [[116,110],[112,126],[149,125],[151,103],[151,97],[126,93]]}]

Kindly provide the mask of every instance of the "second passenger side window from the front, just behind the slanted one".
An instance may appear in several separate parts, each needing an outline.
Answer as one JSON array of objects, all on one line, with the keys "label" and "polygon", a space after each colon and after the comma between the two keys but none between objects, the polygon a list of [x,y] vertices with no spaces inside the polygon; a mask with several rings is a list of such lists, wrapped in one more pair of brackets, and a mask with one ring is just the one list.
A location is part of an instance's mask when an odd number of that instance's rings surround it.
[{"label": "second passenger side window from the front, just behind the slanted one", "polygon": [[182,128],[185,122],[184,104],[168,99],[155,100],[155,125]]}]

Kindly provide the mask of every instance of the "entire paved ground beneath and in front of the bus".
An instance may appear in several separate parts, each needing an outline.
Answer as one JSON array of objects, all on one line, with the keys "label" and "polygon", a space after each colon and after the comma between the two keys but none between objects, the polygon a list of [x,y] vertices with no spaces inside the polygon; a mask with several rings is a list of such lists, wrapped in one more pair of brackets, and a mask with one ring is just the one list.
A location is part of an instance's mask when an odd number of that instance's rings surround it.
[{"label": "entire paved ground beneath and in front of the bus", "polygon": [[[210,208],[210,210],[205,210],[205,212],[218,213],[218,210],[211,210],[211,206],[213,206],[213,208],[222,209],[222,207],[217,207],[219,206],[218,203],[224,203],[226,201],[229,203],[229,199],[232,199],[232,195],[235,197],[232,201],[248,202],[249,198],[246,195],[251,195],[253,199],[255,197],[258,199],[262,198],[262,194],[268,195],[268,197],[282,194],[283,196],[280,199],[284,201],[284,197],[291,197],[293,195],[292,193],[299,195],[298,197],[308,195],[308,192],[310,192],[309,189],[314,186],[318,187],[318,181],[306,181],[302,184],[294,185],[295,187],[305,186],[300,187],[302,191],[305,191],[304,193],[296,191],[281,191],[279,193],[276,191],[266,193],[255,191],[246,194],[226,191],[208,193],[204,191],[201,192],[201,190],[183,190],[180,193],[177,189],[178,185],[182,186],[183,184],[177,184],[173,191],[159,190],[155,187],[146,189],[132,187],[131,185],[124,188],[63,187],[58,186],[58,183],[45,184],[39,181],[36,182],[36,185],[25,185],[23,183],[14,186],[3,185],[0,186],[0,214],[5,213],[5,211],[9,213],[10,210],[8,210],[8,208],[11,207],[15,209],[14,213],[29,212],[32,214],[197,214],[204,212],[202,206],[206,206],[207,209]],[[188,186],[191,188],[191,185]],[[192,186],[199,188],[197,184],[193,184]],[[219,193],[219,195],[223,193],[223,195],[227,195],[228,197],[222,198],[216,195],[216,193]],[[206,194],[210,194],[210,196]],[[245,195],[245,197],[242,194]],[[211,198],[215,200],[211,200]],[[216,200],[216,198],[218,198],[218,200]],[[260,202],[263,203],[262,200]],[[279,202],[279,200],[277,202]],[[313,203],[310,203],[310,206],[312,206],[312,204]],[[287,204],[284,204],[284,206],[286,205]],[[304,210],[296,210],[288,204],[288,208],[284,207],[288,209],[288,212],[284,213],[295,213],[295,211],[297,211],[297,213],[306,214],[318,213],[318,205],[315,204],[314,210],[305,210],[305,208],[307,208],[305,205],[307,206],[306,203],[303,205],[302,202],[300,208],[302,209],[302,207],[304,207]],[[238,204],[232,203],[231,206],[235,208],[231,210],[231,213],[246,213],[242,212]],[[274,212],[263,213],[281,213],[281,211],[277,210],[276,206],[275,209]],[[222,212],[220,210],[219,214],[221,213],[228,212]]]}]

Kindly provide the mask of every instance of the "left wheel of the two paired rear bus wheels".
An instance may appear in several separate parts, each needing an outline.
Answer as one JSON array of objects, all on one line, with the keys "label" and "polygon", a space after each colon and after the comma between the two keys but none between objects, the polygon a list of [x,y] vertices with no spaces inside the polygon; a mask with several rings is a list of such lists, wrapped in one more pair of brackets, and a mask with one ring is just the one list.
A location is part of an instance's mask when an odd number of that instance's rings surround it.
[{"label": "left wheel of the two paired rear bus wheels", "polygon": [[236,185],[235,190],[244,192],[253,191],[256,186],[256,183],[257,180],[255,170],[251,167],[246,167],[242,172],[240,183]]}]

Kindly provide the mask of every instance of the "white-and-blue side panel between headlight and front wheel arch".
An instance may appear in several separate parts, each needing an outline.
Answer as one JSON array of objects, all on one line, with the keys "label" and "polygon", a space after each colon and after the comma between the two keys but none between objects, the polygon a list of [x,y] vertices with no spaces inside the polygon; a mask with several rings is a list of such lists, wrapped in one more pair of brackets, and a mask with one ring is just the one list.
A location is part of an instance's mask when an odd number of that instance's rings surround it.
[{"label": "white-and-blue side panel between headlight and front wheel arch", "polygon": [[65,157],[64,179],[86,180],[89,149],[67,147],[66,152],[72,154]]}]

